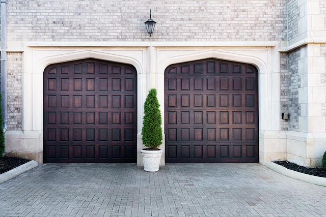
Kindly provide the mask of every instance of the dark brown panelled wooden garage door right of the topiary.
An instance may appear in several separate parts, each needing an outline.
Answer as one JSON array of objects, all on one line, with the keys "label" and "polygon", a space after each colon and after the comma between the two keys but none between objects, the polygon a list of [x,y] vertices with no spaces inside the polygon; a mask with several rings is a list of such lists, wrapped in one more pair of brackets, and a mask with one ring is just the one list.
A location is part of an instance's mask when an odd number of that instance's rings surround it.
[{"label": "dark brown panelled wooden garage door right of the topiary", "polygon": [[165,71],[166,162],[258,162],[258,72],[205,59]]}]

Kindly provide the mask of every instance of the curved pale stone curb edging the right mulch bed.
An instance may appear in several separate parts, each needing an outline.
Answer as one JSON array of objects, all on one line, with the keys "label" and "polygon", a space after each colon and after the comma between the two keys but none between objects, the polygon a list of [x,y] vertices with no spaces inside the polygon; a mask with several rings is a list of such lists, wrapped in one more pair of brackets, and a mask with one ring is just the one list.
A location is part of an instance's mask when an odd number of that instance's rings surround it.
[{"label": "curved pale stone curb edging the right mulch bed", "polygon": [[274,170],[278,173],[281,173],[285,176],[288,176],[290,178],[294,178],[294,179],[305,181],[305,182],[312,183],[312,184],[326,186],[326,178],[289,170],[281,165],[278,165],[278,164],[270,162],[270,161],[266,162],[264,165],[266,167],[268,167],[269,169],[272,169],[272,170]]}]

